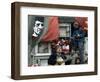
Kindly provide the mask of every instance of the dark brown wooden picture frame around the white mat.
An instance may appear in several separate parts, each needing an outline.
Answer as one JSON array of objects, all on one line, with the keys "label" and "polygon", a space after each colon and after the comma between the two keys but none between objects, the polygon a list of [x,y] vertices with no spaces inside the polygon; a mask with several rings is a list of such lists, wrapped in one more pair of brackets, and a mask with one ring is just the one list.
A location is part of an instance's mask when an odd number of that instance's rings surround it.
[{"label": "dark brown wooden picture frame around the white mat", "polygon": [[[21,7],[39,7],[39,8],[56,8],[56,9],[74,9],[94,11],[94,71],[76,72],[76,73],[59,73],[59,74],[42,74],[42,75],[20,75],[20,8]],[[97,74],[97,7],[75,6],[75,5],[57,5],[14,2],[11,4],[11,78],[12,79],[37,79],[37,78],[54,78],[69,76],[84,76]]]}]

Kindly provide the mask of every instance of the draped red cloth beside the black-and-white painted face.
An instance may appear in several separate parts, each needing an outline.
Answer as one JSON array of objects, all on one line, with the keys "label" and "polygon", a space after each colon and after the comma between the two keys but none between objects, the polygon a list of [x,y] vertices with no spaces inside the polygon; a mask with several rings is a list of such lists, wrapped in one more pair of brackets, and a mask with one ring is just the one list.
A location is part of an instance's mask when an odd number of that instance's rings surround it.
[{"label": "draped red cloth beside the black-and-white painted face", "polygon": [[42,41],[52,41],[57,40],[59,37],[59,23],[58,23],[58,17],[53,16],[49,17],[49,23],[48,23],[48,31],[43,36]]}]

